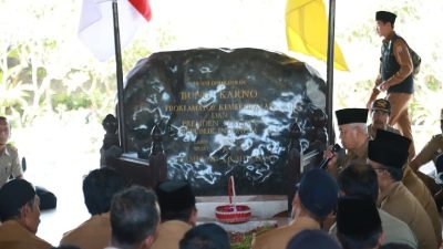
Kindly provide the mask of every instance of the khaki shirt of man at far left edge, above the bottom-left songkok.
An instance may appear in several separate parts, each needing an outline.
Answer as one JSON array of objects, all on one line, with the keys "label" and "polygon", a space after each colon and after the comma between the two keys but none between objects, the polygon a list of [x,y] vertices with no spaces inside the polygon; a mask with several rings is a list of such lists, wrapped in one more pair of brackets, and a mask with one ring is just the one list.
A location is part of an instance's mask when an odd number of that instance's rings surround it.
[{"label": "khaki shirt of man at far left edge, above the bottom-left songkok", "polygon": [[[1,153],[1,152],[0,152]],[[10,176],[14,178],[23,175],[17,148],[7,144],[3,153],[0,154],[0,187],[3,186]]]}]

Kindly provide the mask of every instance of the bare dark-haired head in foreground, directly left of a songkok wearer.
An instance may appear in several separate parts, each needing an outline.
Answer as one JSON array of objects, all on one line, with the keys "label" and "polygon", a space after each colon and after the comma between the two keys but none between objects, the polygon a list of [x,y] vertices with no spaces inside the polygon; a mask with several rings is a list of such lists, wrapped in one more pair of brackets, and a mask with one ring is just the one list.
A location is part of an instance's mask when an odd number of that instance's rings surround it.
[{"label": "bare dark-haired head in foreground, directly left of a songkok wearer", "polygon": [[154,242],[159,207],[154,191],[132,186],[114,195],[111,204],[111,241],[122,249],[146,249]]}]

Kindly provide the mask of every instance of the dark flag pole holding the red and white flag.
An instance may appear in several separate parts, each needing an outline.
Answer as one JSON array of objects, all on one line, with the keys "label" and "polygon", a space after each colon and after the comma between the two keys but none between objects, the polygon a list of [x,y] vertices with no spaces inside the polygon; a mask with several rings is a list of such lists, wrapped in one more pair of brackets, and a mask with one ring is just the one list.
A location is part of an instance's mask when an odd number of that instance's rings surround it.
[{"label": "dark flag pole holding the red and white flag", "polygon": [[112,1],[112,17],[114,21],[114,45],[115,45],[115,65],[116,65],[116,80],[117,80],[117,121],[119,121],[119,139],[123,153],[127,152],[126,148],[126,134],[124,124],[124,89],[123,89],[123,66],[122,66],[122,50],[120,44],[120,25],[119,25],[119,6],[117,0]]}]

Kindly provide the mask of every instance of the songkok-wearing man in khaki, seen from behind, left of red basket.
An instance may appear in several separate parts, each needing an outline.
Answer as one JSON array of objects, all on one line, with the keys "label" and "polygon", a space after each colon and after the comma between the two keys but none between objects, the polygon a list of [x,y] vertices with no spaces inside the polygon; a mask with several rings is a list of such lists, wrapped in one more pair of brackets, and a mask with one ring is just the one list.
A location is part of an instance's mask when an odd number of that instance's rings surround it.
[{"label": "songkok-wearing man in khaki, seen from behind, left of red basket", "polygon": [[178,249],[183,236],[197,221],[195,196],[183,180],[165,180],[155,187],[162,222],[152,249]]}]

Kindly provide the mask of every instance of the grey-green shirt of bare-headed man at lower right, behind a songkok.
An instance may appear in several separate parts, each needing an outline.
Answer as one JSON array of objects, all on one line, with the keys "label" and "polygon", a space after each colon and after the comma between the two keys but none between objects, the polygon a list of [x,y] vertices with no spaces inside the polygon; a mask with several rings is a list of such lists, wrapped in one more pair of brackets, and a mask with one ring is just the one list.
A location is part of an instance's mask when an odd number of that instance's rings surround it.
[{"label": "grey-green shirt of bare-headed man at lower right, behind a songkok", "polygon": [[[411,228],[400,219],[391,216],[379,208],[379,215],[381,219],[381,227],[383,229],[384,239],[382,245],[387,243],[405,243],[411,248],[419,248],[419,243]],[[333,224],[329,234],[332,236],[337,235],[337,224]]]}]

